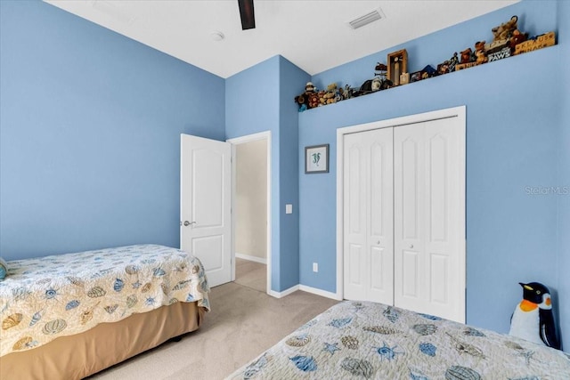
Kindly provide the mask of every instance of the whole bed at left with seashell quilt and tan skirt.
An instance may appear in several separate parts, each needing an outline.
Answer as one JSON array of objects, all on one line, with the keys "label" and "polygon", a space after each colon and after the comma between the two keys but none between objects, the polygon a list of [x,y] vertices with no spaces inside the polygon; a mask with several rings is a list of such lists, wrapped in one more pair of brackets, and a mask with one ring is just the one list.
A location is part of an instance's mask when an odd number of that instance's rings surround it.
[{"label": "whole bed at left with seashell quilt and tan skirt", "polygon": [[137,245],[8,262],[0,378],[80,379],[199,328],[199,259]]}]

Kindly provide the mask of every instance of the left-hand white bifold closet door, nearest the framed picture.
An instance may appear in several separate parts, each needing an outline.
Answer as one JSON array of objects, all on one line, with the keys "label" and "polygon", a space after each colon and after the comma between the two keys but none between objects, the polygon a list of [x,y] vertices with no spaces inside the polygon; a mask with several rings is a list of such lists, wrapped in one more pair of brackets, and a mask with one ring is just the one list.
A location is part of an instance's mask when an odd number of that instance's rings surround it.
[{"label": "left-hand white bifold closet door, nearest the framed picture", "polygon": [[393,304],[393,128],[346,134],[344,149],[344,296]]}]

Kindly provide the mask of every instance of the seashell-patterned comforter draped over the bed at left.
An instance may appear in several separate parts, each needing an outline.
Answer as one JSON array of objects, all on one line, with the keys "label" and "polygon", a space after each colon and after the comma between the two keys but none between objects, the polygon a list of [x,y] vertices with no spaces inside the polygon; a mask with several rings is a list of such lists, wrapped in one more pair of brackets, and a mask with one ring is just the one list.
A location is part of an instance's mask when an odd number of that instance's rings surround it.
[{"label": "seashell-patterned comforter draped over the bed at left", "polygon": [[176,302],[209,310],[198,258],[138,245],[9,263],[0,282],[0,356]]}]

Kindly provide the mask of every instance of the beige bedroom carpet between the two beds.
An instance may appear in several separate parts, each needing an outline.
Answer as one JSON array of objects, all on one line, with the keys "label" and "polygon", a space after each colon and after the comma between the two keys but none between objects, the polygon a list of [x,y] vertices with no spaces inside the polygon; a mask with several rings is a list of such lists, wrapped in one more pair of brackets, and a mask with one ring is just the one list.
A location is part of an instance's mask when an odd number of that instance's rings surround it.
[{"label": "beige bedroom carpet between the two beds", "polygon": [[162,344],[93,379],[223,379],[335,300],[297,291],[281,299],[236,283],[214,287],[198,331]]}]

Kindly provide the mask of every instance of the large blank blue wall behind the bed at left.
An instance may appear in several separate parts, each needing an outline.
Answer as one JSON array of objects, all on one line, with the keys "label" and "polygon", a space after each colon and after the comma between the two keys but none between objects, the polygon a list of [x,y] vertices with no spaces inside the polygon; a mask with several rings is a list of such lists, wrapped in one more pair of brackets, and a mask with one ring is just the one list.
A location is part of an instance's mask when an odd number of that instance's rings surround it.
[{"label": "large blank blue wall behind the bed at left", "polygon": [[179,246],[180,133],[224,79],[39,1],[0,1],[0,252]]}]

